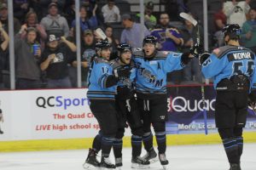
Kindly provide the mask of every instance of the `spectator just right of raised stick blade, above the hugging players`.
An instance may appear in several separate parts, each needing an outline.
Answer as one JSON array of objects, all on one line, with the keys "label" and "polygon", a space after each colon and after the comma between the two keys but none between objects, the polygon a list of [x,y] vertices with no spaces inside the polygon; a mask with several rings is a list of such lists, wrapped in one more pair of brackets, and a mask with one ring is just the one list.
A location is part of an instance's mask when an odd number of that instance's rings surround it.
[{"label": "spectator just right of raised stick blade, above the hugging players", "polygon": [[110,60],[115,59],[118,56],[117,44],[119,44],[119,41],[118,41],[118,39],[113,37],[113,27],[110,26],[110,25],[107,25],[105,27],[105,34],[108,38],[108,42],[112,46],[112,51],[111,51],[111,54],[110,54]]}]

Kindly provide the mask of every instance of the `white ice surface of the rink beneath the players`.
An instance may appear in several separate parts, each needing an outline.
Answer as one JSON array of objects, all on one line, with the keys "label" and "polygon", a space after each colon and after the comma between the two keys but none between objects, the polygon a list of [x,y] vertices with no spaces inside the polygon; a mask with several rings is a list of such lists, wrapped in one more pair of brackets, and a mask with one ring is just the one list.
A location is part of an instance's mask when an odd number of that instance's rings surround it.
[{"label": "white ice surface of the rink beneath the players", "polygon": [[[83,170],[88,150],[0,153],[0,170]],[[256,144],[244,144],[242,170],[256,170]],[[223,145],[171,146],[166,150],[171,170],[228,170]],[[111,156],[113,161],[113,156]],[[131,148],[123,150],[124,170],[131,169]],[[160,162],[150,165],[160,170]],[[148,170],[149,170],[148,169]]]}]

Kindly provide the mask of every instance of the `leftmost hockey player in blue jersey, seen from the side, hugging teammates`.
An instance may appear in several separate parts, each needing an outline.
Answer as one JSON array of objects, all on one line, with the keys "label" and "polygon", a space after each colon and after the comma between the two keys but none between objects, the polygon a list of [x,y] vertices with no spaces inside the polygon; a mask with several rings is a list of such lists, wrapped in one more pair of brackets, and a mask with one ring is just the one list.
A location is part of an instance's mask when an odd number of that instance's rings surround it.
[{"label": "leftmost hockey player in blue jersey, seen from the side, hugging teammates", "polygon": [[[130,77],[130,70],[113,70],[108,60],[111,46],[108,41],[96,43],[97,56],[90,64],[89,85],[87,97],[90,99],[90,110],[98,121],[101,131],[93,141],[93,148],[89,150],[84,168],[114,169],[109,159],[113,141],[118,132],[117,111],[115,99],[117,83]],[[102,150],[102,160],[98,162],[96,153]]]}]

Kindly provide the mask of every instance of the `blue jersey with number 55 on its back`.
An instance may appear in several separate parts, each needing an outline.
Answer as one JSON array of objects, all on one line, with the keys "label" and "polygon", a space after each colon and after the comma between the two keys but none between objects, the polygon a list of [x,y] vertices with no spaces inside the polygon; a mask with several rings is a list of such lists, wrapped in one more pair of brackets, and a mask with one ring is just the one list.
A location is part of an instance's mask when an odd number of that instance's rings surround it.
[{"label": "blue jersey with number 55 on its back", "polygon": [[241,74],[250,77],[254,85],[256,81],[254,67],[255,54],[250,49],[227,45],[213,50],[210,57],[202,64],[202,72],[206,78],[213,77],[214,88],[222,79],[230,79],[234,75]]}]

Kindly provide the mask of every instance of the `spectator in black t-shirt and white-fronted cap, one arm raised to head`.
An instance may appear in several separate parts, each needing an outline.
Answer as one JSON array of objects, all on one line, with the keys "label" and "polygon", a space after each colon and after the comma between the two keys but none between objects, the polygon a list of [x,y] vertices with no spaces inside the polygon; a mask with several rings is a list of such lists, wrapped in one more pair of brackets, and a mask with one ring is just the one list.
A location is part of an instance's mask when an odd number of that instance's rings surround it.
[{"label": "spectator in black t-shirt and white-fronted cap, one arm raised to head", "polygon": [[40,60],[41,70],[46,71],[47,88],[72,87],[68,76],[68,65],[72,65],[75,60],[73,52],[76,47],[65,37],[61,37],[61,42],[54,34],[50,34]]}]

